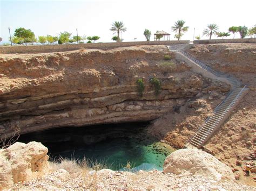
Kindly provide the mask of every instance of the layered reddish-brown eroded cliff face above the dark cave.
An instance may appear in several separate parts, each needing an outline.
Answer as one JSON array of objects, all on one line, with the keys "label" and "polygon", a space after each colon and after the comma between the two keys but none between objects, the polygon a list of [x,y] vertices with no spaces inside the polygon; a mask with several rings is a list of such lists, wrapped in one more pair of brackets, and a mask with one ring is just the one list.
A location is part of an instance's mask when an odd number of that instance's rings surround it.
[{"label": "layered reddish-brown eroded cliff face above the dark cave", "polygon": [[[160,80],[158,96],[151,77]],[[150,121],[177,109],[177,99],[208,90],[229,86],[191,72],[165,46],[1,55],[0,137],[15,130]]]}]

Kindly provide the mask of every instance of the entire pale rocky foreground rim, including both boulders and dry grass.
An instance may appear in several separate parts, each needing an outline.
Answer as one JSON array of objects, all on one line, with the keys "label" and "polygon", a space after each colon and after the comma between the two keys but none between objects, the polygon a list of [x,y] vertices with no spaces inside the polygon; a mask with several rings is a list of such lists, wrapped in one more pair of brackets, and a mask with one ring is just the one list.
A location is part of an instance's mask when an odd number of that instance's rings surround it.
[{"label": "entire pale rocky foreground rim, including both boulders and dry grass", "polygon": [[[14,152],[15,151],[15,152]],[[47,148],[40,143],[15,143],[0,150],[0,181],[9,189],[242,189],[255,188],[234,182],[231,168],[204,151],[185,149],[173,152],[164,171],[137,173],[90,169],[86,163],[63,160],[48,164]],[[8,158],[4,158],[9,156]],[[41,159],[40,159],[41,158]],[[178,159],[178,160],[177,160]],[[30,165],[31,164],[31,165]],[[35,171],[36,167],[36,171]],[[94,166],[97,168],[97,166]],[[48,171],[48,172],[46,172]],[[37,176],[37,178],[34,178]],[[14,181],[14,185],[12,185]]]}]

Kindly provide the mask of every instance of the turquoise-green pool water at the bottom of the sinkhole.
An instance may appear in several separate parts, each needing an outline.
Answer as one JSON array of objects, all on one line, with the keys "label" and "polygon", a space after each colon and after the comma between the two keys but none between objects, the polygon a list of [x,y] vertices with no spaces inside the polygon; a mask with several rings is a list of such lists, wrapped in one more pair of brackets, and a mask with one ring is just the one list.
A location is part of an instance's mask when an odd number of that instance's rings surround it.
[{"label": "turquoise-green pool water at the bottom of the sinkhole", "polygon": [[130,162],[134,171],[144,169],[163,170],[164,160],[171,150],[158,142],[148,143],[134,138],[113,138],[99,143],[86,145],[76,150],[52,153],[52,157],[90,159],[105,164],[113,170],[125,169]]}]

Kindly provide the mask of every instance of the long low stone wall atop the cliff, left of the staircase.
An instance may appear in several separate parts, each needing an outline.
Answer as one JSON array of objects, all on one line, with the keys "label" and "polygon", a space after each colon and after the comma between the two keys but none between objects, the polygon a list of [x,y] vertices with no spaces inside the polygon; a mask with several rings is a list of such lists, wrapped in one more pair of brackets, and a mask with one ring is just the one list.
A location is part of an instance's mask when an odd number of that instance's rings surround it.
[{"label": "long low stone wall atop the cliff, left of the staircase", "polygon": [[89,43],[89,44],[68,44],[68,45],[30,45],[30,46],[2,46],[0,53],[46,53],[73,51],[83,48],[118,48],[138,45],[170,45],[170,44],[189,44],[189,40],[169,40],[169,41],[134,41],[123,43]]}]

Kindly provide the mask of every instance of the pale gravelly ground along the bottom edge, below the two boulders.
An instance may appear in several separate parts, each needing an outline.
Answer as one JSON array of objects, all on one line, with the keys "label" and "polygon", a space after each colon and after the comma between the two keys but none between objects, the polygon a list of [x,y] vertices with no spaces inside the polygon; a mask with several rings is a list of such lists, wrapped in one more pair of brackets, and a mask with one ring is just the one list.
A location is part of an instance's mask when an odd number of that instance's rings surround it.
[{"label": "pale gravelly ground along the bottom edge, below the two boulders", "polygon": [[203,175],[184,176],[171,173],[164,174],[160,171],[114,172],[103,169],[97,173],[91,171],[74,177],[69,175],[67,171],[60,169],[45,175],[43,178],[17,183],[11,189],[255,190],[256,188],[238,185],[233,181],[215,181]]}]

